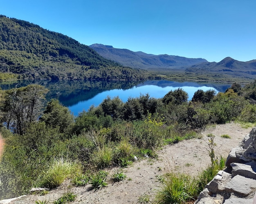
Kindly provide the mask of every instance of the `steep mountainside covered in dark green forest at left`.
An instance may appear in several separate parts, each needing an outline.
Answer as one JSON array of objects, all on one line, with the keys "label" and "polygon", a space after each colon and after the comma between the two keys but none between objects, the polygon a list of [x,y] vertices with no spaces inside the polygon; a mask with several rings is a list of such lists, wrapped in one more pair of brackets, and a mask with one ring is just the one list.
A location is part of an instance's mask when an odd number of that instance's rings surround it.
[{"label": "steep mountainside covered in dark green forest at left", "polygon": [[136,80],[145,72],[33,23],[0,15],[0,72],[19,78]]}]

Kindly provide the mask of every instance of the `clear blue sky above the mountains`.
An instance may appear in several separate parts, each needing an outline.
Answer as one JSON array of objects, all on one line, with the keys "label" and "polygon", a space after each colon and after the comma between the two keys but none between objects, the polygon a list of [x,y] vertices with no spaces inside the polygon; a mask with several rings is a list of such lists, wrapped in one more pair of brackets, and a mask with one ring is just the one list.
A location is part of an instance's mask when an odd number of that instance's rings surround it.
[{"label": "clear blue sky above the mountains", "polygon": [[0,14],[85,45],[210,62],[256,59],[256,0],[0,0]]}]

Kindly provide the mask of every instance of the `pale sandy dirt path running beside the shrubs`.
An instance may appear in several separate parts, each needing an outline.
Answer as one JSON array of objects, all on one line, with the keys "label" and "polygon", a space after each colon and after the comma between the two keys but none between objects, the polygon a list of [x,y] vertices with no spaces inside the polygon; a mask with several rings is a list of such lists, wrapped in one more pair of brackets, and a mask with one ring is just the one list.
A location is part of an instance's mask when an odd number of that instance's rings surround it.
[{"label": "pale sandy dirt path running beside the shrubs", "polygon": [[[47,195],[29,195],[18,200],[12,201],[12,204],[31,204],[36,200],[52,203],[65,192],[72,191],[77,197],[75,204],[135,204],[141,203],[143,198],[148,197],[151,203],[154,200],[157,190],[161,183],[158,177],[172,170],[177,173],[188,173],[192,176],[198,173],[210,164],[208,155],[208,134],[215,135],[214,142],[215,153],[220,157],[227,158],[232,147],[238,146],[245,135],[248,135],[252,128],[244,129],[237,123],[228,123],[211,127],[202,132],[201,139],[191,139],[181,141],[173,145],[167,145],[158,151],[158,159],[143,159],[136,161],[128,168],[122,169],[127,175],[124,181],[111,183],[99,191],[90,191],[90,184],[84,187],[72,187],[66,182],[59,188],[51,191]],[[227,134],[231,139],[220,137]],[[109,170],[109,177],[115,169]],[[0,202],[1,203],[1,202]],[[146,202],[145,202],[146,203]]]}]

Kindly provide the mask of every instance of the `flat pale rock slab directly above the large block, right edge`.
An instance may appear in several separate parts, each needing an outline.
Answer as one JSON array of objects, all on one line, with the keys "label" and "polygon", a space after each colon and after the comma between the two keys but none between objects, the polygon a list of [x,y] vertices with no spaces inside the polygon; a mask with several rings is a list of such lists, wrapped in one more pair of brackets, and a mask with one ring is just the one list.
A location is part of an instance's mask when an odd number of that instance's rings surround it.
[{"label": "flat pale rock slab directly above the large block, right edge", "polygon": [[256,162],[252,161],[246,164],[231,163],[232,175],[240,175],[250,179],[256,179]]}]

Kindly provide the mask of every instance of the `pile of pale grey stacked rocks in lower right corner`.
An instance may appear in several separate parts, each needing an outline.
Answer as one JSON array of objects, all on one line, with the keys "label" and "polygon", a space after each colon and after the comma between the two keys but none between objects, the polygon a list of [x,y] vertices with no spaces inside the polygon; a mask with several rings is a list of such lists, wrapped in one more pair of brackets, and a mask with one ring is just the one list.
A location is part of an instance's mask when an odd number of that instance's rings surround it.
[{"label": "pile of pale grey stacked rocks in lower right corner", "polygon": [[256,204],[256,127],[231,149],[226,167],[205,186],[195,204]]}]

